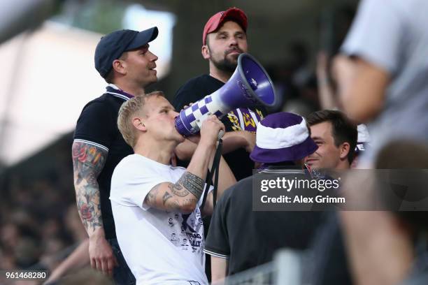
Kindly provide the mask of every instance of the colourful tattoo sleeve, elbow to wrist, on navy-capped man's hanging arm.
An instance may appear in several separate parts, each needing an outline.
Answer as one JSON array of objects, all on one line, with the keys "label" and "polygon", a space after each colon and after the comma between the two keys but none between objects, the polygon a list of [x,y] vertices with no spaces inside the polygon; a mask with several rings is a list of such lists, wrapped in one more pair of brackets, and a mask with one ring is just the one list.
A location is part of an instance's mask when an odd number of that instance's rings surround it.
[{"label": "colourful tattoo sleeve, elbow to wrist, on navy-capped man's hanging arm", "polygon": [[76,202],[88,234],[103,226],[97,178],[106,163],[108,152],[85,142],[73,142],[73,174]]}]

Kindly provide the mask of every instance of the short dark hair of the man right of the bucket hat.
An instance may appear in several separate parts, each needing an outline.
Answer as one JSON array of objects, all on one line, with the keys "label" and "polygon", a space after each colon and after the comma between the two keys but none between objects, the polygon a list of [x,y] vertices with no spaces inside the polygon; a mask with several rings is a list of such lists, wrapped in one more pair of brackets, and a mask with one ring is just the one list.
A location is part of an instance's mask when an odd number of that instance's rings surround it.
[{"label": "short dark hair of the man right of the bucket hat", "polygon": [[330,122],[334,145],[338,147],[343,142],[348,142],[350,145],[348,161],[352,163],[352,160],[355,158],[355,146],[357,145],[358,138],[357,125],[348,119],[343,112],[337,110],[312,112],[306,117],[306,122],[308,122],[309,126]]}]

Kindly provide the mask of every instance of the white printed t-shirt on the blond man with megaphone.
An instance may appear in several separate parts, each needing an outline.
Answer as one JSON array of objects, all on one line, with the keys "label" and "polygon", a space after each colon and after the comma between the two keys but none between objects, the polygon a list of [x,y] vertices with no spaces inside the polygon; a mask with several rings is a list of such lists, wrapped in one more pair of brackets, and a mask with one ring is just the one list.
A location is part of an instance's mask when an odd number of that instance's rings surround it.
[{"label": "white printed t-shirt on the blond man with megaphone", "polygon": [[139,154],[125,157],[114,170],[110,200],[117,241],[137,285],[208,284],[202,198],[191,214],[143,205],[153,187],[175,183],[185,171]]}]

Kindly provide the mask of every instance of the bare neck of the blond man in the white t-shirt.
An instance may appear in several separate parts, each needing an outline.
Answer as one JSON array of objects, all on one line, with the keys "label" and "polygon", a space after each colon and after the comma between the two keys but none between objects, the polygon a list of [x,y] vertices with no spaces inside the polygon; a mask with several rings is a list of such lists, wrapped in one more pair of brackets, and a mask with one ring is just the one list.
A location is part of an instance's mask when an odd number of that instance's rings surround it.
[{"label": "bare neck of the blond man in the white t-shirt", "polygon": [[169,165],[171,164],[171,154],[176,148],[176,142],[159,142],[155,140],[145,141],[143,143],[137,142],[134,147],[134,152],[142,156],[157,161],[159,163]]}]

